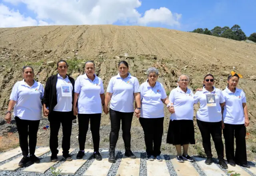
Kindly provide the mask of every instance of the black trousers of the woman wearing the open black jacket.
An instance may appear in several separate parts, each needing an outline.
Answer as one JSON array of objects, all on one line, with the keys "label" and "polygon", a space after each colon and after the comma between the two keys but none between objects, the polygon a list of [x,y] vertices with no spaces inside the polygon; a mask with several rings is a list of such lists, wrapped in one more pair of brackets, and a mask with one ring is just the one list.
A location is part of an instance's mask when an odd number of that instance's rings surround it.
[{"label": "black trousers of the woman wearing the open black jacket", "polygon": [[52,111],[50,113],[50,149],[52,154],[58,154],[58,133],[60,130],[60,124],[62,125],[62,150],[63,154],[69,154],[70,149],[70,137],[72,132],[72,111],[59,112]]}]

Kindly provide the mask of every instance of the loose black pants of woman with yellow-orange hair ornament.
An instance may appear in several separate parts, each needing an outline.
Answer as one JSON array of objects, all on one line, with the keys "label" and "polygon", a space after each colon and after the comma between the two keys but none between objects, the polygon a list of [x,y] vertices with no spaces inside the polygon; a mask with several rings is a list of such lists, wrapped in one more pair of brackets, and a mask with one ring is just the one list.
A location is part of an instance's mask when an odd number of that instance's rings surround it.
[{"label": "loose black pants of woman with yellow-orange hair ornament", "polygon": [[[224,123],[223,135],[225,138],[226,158],[228,162],[247,164],[246,156],[246,128],[242,125]],[[234,137],[236,138],[236,154],[234,154]]]}]

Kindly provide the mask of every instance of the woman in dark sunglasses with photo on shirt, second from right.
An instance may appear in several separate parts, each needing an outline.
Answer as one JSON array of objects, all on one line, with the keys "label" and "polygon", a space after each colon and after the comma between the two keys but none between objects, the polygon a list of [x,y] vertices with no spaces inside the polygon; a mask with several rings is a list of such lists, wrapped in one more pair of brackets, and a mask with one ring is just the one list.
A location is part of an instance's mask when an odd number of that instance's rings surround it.
[{"label": "woman in dark sunglasses with photo on shirt, second from right", "polygon": [[[196,113],[197,124],[203,139],[203,147],[207,159],[205,164],[212,164],[211,135],[218,154],[219,164],[222,168],[228,168],[224,161],[224,145],[222,143],[222,108],[225,98],[220,89],[215,88],[214,76],[207,74],[204,77],[202,91],[194,95],[195,104],[200,102],[200,108]],[[214,101],[210,101],[210,99]]]}]

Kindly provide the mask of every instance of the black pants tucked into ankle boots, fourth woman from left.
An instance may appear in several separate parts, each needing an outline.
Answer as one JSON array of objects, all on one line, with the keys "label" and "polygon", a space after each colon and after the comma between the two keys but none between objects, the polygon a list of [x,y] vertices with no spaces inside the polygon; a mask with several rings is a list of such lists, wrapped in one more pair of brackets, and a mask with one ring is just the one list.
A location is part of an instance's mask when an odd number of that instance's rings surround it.
[{"label": "black pants tucked into ankle boots, fourth woman from left", "polygon": [[131,147],[131,126],[133,112],[119,112],[112,109],[109,110],[111,131],[109,135],[110,148],[115,148],[119,136],[120,123],[122,120],[122,132],[124,147]]}]

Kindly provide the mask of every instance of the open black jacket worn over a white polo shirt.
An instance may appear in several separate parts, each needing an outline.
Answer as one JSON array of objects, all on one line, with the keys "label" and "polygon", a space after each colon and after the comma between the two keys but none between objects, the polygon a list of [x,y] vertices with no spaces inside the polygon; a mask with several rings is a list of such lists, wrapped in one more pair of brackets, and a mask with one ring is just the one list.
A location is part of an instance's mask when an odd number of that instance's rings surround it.
[{"label": "open black jacket worn over a white polo shirt", "polygon": [[[49,107],[49,115],[57,104],[57,90],[56,90],[57,78],[58,78],[58,74],[50,76],[47,79],[46,85],[44,88],[43,102],[46,105],[46,107]],[[68,76],[68,78],[73,86],[73,90],[72,90],[72,105],[73,105],[75,80],[70,76]],[[48,120],[50,120],[49,118],[51,118],[49,115],[48,115]],[[76,119],[76,116],[73,115],[73,107],[72,107],[72,119]]]}]

